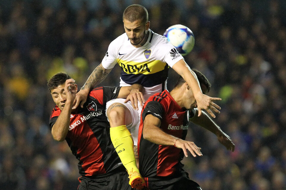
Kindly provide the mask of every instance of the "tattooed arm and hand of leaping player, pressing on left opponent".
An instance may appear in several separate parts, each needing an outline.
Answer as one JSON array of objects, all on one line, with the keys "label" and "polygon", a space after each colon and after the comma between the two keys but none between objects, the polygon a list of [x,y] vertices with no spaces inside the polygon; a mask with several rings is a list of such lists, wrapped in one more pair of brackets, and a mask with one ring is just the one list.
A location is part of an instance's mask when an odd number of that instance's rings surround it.
[{"label": "tattooed arm and hand of leaping player, pressing on left opponent", "polygon": [[72,109],[77,108],[78,105],[83,107],[83,104],[86,102],[89,91],[101,83],[105,77],[111,72],[112,69],[105,69],[102,64],[97,66],[91,75],[86,80],[86,83],[80,88],[80,91],[76,94],[74,99],[74,106]]}]

